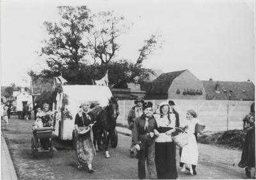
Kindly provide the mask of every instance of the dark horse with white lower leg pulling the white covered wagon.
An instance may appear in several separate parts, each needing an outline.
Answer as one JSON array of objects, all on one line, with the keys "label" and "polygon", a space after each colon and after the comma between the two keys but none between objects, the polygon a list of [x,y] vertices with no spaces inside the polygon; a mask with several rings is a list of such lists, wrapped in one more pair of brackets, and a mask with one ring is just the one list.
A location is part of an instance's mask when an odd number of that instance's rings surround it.
[{"label": "dark horse with white lower leg pulling the white covered wagon", "polygon": [[[108,146],[109,146],[109,139],[111,139],[111,135],[115,132],[116,128],[116,119],[120,114],[118,112],[118,99],[115,99],[113,96],[109,99],[109,103],[106,107],[95,107],[92,110],[94,115],[94,126],[93,126],[93,144],[95,145],[96,149],[97,146],[100,147],[101,137],[103,134],[105,145],[105,157],[109,158]],[[97,141],[97,144],[96,144]],[[96,146],[97,145],[97,146]]]}]

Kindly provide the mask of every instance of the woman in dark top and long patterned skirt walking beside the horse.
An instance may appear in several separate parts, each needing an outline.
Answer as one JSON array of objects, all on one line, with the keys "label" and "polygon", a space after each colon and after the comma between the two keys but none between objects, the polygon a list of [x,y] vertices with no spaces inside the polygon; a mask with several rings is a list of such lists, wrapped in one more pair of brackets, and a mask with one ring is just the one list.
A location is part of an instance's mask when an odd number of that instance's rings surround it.
[{"label": "woman in dark top and long patterned skirt walking beside the horse", "polygon": [[[82,169],[82,164],[88,166],[88,172],[94,172],[92,168],[93,156],[96,155],[93,145],[93,121],[92,112],[89,112],[90,103],[84,101],[81,104],[81,110],[76,114],[75,129],[76,129],[76,155],[78,160],[77,169]],[[84,131],[84,133],[83,133]]]}]

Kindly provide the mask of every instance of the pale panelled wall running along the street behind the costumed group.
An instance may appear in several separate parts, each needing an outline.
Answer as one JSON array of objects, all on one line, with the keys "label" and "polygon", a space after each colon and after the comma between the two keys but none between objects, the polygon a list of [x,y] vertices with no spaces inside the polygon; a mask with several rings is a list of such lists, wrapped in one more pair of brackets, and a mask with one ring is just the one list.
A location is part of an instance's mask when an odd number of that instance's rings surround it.
[{"label": "pale panelled wall running along the street behind the costumed group", "polygon": [[[154,110],[157,103],[166,100],[152,101]],[[222,101],[222,100],[175,100],[174,109],[179,112],[180,123],[186,119],[186,111],[193,109],[198,114],[198,119],[205,125],[205,131],[242,130],[243,118],[250,112],[253,101]],[[131,100],[118,101],[120,115],[117,123],[128,124],[129,110],[135,105]]]}]

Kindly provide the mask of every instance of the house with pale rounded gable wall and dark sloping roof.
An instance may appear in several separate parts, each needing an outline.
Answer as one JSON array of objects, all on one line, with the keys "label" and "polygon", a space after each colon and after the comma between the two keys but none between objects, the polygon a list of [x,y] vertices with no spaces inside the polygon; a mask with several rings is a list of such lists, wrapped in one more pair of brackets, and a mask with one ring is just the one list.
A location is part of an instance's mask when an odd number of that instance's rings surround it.
[{"label": "house with pale rounded gable wall and dark sloping roof", "polygon": [[205,100],[202,82],[189,70],[163,73],[142,89],[147,89],[148,100]]}]

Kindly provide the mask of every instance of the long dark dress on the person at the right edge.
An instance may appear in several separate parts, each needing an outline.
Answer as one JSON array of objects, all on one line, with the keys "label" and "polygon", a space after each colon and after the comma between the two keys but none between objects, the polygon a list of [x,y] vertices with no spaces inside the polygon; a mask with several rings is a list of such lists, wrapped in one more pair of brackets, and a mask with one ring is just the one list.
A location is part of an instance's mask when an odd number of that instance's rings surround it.
[{"label": "long dark dress on the person at the right edge", "polygon": [[243,121],[244,129],[252,126],[254,128],[246,133],[244,149],[238,166],[241,168],[255,167],[255,114],[250,112],[250,114],[244,117]]}]

